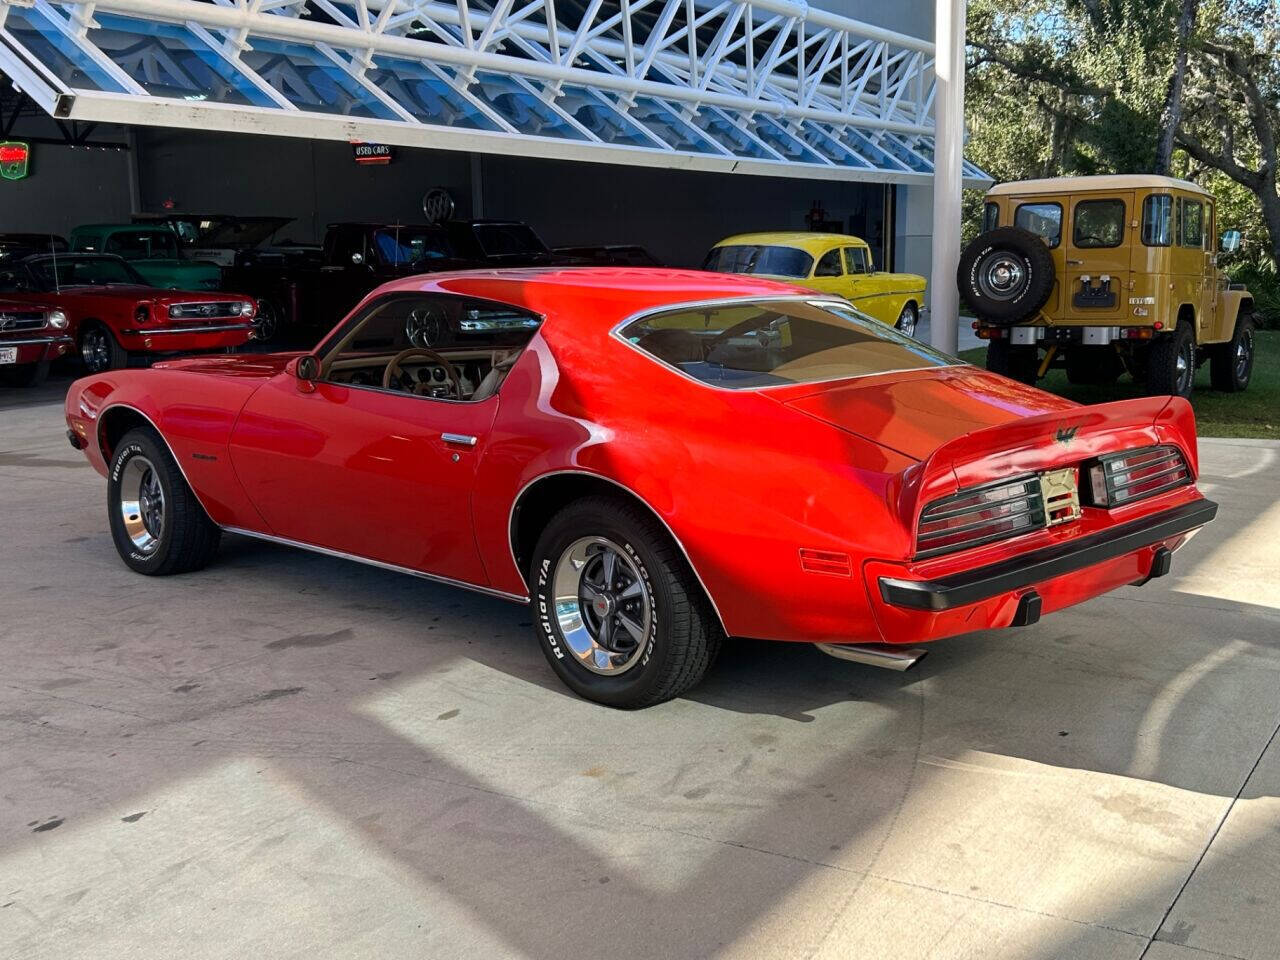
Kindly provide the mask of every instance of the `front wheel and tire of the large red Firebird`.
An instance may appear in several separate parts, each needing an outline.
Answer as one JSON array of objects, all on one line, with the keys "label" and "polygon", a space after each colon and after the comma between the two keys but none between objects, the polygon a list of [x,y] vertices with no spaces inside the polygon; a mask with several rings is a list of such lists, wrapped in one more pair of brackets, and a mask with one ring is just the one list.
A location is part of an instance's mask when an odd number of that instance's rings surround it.
[{"label": "front wheel and tire of the large red Firebird", "polygon": [[116,444],[106,509],[115,549],[134,572],[187,573],[206,566],[218,550],[221,531],[151,428],[131,430]]}]

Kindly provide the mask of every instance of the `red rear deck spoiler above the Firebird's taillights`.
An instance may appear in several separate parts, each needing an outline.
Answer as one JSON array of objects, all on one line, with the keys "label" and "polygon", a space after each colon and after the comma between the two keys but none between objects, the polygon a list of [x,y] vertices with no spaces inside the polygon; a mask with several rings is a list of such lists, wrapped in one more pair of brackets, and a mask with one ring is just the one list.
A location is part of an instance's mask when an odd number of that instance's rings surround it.
[{"label": "red rear deck spoiler above the Firebird's taillights", "polygon": [[933,500],[992,480],[1082,463],[1102,453],[1172,443],[1199,472],[1196,415],[1181,397],[1143,397],[1012,420],[956,436],[902,474],[899,511],[915,530]]}]

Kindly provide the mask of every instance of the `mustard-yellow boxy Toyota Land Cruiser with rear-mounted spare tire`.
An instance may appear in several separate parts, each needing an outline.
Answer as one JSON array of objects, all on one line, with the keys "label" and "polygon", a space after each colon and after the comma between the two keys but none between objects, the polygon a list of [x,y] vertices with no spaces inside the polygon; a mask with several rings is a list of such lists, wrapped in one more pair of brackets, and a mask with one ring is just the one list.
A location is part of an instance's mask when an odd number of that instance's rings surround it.
[{"label": "mustard-yellow boxy Toyota Land Cruiser with rear-mounted spare tire", "polygon": [[1148,393],[1187,397],[1206,360],[1219,390],[1253,370],[1253,298],[1217,269],[1213,197],[1171,177],[1065,177],[987,193],[983,232],[960,257],[960,296],[987,369],[1034,383],[1125,370]]}]

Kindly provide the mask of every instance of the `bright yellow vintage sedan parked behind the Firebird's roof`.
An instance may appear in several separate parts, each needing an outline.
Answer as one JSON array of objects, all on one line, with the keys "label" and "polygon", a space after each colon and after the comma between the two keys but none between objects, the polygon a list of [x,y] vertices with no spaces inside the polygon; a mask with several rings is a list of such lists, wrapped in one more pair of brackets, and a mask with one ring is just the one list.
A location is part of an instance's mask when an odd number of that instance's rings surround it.
[{"label": "bright yellow vintage sedan parked behind the Firebird's roof", "polygon": [[867,242],[844,233],[740,233],[712,247],[703,269],[836,293],[908,337],[924,306],[923,276],[877,270]]}]

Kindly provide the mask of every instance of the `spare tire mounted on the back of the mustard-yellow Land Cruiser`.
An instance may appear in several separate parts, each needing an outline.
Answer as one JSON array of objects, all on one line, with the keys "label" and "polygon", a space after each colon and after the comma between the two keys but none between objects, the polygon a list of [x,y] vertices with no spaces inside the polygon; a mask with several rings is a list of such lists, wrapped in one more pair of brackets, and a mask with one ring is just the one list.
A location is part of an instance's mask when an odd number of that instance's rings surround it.
[{"label": "spare tire mounted on the back of the mustard-yellow Land Cruiser", "polygon": [[1016,324],[1036,316],[1053,291],[1053,257],[1030,230],[998,227],[964,248],[956,283],[982,320]]}]

